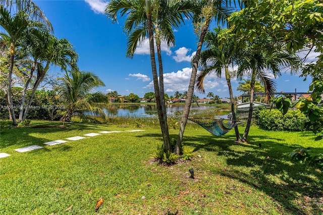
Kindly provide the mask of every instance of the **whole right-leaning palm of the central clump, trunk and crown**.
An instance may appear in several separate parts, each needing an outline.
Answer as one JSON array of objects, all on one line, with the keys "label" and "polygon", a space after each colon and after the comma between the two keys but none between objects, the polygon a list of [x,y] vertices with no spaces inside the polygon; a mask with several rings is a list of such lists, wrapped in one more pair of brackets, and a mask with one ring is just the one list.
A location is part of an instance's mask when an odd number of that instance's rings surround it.
[{"label": "whole right-leaning palm of the central clump, trunk and crown", "polygon": [[175,150],[174,150],[175,153],[177,154],[180,154],[180,151],[181,151],[180,149],[182,145],[182,139],[184,135],[185,126],[187,123],[187,118],[190,112],[192,97],[194,94],[194,85],[195,85],[196,73],[198,69],[198,62],[200,59],[200,53],[201,53],[205,34],[207,33],[208,27],[213,18],[217,20],[218,23],[220,23],[220,22],[224,22],[224,20],[229,16],[231,9],[228,8],[227,6],[228,6],[228,1],[224,1],[224,0],[197,1],[196,11],[194,14],[194,23],[195,23],[195,30],[199,34],[199,41],[197,43],[196,54],[192,65],[192,73],[191,73],[191,78],[188,86],[180,131],[179,131],[179,135],[178,135]]}]

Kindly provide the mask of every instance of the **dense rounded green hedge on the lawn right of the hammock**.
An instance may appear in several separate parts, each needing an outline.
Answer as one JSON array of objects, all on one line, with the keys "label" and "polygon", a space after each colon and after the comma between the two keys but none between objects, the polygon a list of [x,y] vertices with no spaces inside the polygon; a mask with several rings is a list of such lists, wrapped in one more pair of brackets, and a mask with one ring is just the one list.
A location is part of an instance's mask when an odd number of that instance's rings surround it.
[{"label": "dense rounded green hedge on the lawn right of the hammock", "polygon": [[303,131],[306,117],[299,110],[289,110],[284,116],[276,109],[261,110],[257,113],[256,123],[264,130]]}]

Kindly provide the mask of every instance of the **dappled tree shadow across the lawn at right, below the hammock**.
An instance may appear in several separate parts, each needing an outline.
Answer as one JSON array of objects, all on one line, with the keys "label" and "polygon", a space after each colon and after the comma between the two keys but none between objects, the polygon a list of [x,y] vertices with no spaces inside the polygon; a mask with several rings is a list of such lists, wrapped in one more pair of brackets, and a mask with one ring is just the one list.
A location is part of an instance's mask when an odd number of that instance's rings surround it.
[{"label": "dappled tree shadow across the lawn at right, below the hammock", "polygon": [[[225,139],[226,138],[226,139]],[[262,147],[258,146],[261,141]],[[250,136],[248,143],[234,143],[235,136],[189,136],[185,145],[197,150],[215,151],[226,157],[230,168],[220,170],[221,175],[239,180],[258,189],[285,210],[296,214],[323,213],[323,174],[319,170],[290,162],[284,154],[300,145],[282,143],[281,139],[266,136]],[[323,148],[315,148],[317,151]],[[215,174],[219,173],[214,172]]]}]

